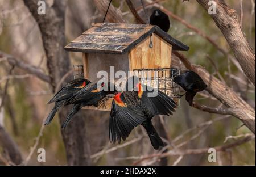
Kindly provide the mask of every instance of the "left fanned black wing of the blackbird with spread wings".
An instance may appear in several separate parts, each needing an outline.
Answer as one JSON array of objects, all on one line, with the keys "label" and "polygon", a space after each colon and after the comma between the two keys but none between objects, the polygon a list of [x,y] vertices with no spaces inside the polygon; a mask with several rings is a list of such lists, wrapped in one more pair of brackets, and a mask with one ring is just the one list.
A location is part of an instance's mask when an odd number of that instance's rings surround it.
[{"label": "left fanned black wing of the blackbird with spread wings", "polygon": [[129,136],[134,127],[142,124],[146,120],[146,116],[141,108],[132,106],[125,103],[118,103],[115,100],[112,102],[110,120],[109,120],[109,140],[110,142],[121,142]]}]

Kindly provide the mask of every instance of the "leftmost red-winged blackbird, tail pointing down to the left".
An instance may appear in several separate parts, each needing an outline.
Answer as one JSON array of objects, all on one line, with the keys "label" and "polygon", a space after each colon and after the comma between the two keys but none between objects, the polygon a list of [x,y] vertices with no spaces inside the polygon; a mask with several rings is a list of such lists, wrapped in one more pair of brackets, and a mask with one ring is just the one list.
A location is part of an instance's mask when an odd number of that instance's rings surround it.
[{"label": "leftmost red-winged blackbird, tail pointing down to the left", "polygon": [[49,100],[48,104],[55,102],[55,106],[52,111],[49,113],[44,125],[51,123],[57,110],[68,103],[68,100],[81,88],[84,88],[88,85],[90,81],[88,79],[74,79],[71,82],[66,83],[54,96]]}]

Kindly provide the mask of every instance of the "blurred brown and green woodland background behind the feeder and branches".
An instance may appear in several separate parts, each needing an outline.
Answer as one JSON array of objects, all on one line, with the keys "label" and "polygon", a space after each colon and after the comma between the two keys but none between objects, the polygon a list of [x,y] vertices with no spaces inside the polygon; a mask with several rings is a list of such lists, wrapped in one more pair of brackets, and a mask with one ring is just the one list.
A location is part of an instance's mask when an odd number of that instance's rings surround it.
[{"label": "blurred brown and green woodland background behind the feeder and branches", "polygon": [[[216,27],[209,14],[196,1],[166,0],[157,2],[192,26],[205,32],[218,44],[218,47],[233,56],[220,29]],[[255,53],[255,1],[226,0],[225,2],[235,9],[240,16],[242,8],[242,30]],[[51,6],[53,0],[47,1],[47,3]],[[134,0],[133,3],[136,8],[141,7],[140,1]],[[122,11],[123,17],[130,23],[136,23],[125,1],[113,0],[112,4]],[[148,15],[154,8],[154,5],[147,6]],[[142,10],[139,10],[139,14],[145,18]],[[101,22],[102,18],[103,15],[96,9],[93,0],[69,0],[65,15],[67,43],[90,28],[92,23]],[[208,40],[178,20],[171,17],[170,20],[171,29],[168,33],[190,47],[188,52],[183,52],[189,61],[203,66],[211,74],[216,75],[218,72],[216,77],[225,81],[226,85],[233,88],[255,109],[255,87],[238,69],[236,62],[232,59],[233,57],[222,54]],[[15,56],[19,61],[35,66],[43,73],[48,72],[46,54],[38,24],[21,0],[0,0],[0,50]],[[69,54],[71,65],[82,64],[80,53]],[[0,75],[0,103],[3,103],[0,106],[0,125],[5,128],[6,133],[14,141],[22,159],[28,158],[28,165],[67,165],[65,146],[61,137],[57,114],[50,125],[42,128],[42,123],[52,108],[52,105],[47,104],[53,96],[51,87],[48,83],[27,74],[26,71],[20,70],[18,67],[11,70],[11,66],[4,58],[0,59]],[[6,82],[8,82],[8,86],[6,86]],[[2,102],[3,99],[5,102]],[[189,107],[184,97],[180,102],[180,107],[173,116],[164,117],[168,138],[170,138],[172,145],[180,150],[221,146],[251,133],[245,126],[240,128],[242,122],[236,117],[216,115]],[[198,94],[195,102],[210,107],[222,106],[207,91]],[[84,136],[90,155],[89,165],[132,165],[143,155],[157,153],[151,147],[150,141],[141,127],[135,128],[121,146],[113,145],[109,143],[108,136],[109,112],[84,109],[81,111],[86,115],[86,117],[79,117],[79,119],[85,119],[86,134]],[[156,119],[158,118],[154,119],[156,129],[159,130],[160,128],[159,131],[162,131],[159,121]],[[206,122],[207,125],[205,125]],[[229,136],[238,137],[226,140],[226,137]],[[38,142],[36,149],[31,154],[31,147],[34,147],[36,142]],[[37,149],[40,147],[46,150],[46,162],[37,161]],[[1,143],[0,154],[0,165],[8,165],[8,155],[6,155],[5,149],[1,147]],[[209,162],[208,153],[203,153],[171,155],[160,161],[151,158],[140,164],[255,165],[255,140],[230,148],[227,151],[218,152],[217,162]]]}]

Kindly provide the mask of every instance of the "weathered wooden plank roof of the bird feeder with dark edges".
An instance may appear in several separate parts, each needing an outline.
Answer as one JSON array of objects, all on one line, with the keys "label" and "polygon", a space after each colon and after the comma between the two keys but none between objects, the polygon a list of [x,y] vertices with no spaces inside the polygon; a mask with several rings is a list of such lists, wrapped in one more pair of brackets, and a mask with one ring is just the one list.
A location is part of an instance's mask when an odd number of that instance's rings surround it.
[{"label": "weathered wooden plank roof of the bird feeder with dark edges", "polygon": [[96,23],[71,41],[65,50],[85,53],[125,54],[152,33],[172,45],[172,50],[187,51],[189,47],[174,39],[158,26],[130,23]]}]

